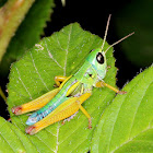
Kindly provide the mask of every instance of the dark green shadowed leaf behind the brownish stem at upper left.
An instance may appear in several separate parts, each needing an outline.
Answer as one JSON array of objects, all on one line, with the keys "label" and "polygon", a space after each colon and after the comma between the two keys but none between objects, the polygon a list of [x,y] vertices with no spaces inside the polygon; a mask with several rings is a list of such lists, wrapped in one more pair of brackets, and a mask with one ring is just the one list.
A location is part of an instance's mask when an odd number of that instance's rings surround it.
[{"label": "dark green shadowed leaf behind the brownish stem at upper left", "polygon": [[0,64],[0,73],[8,74],[10,64],[20,59],[40,39],[46,22],[50,20],[54,0],[36,0],[11,39]]}]

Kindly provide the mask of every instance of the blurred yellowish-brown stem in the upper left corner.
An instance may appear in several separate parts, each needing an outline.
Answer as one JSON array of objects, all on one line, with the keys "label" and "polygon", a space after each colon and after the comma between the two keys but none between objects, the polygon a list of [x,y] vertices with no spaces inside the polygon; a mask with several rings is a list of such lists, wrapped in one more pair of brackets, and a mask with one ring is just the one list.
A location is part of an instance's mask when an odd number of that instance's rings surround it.
[{"label": "blurred yellowish-brown stem in the upper left corner", "polygon": [[9,0],[0,9],[0,61],[11,37],[35,0]]}]

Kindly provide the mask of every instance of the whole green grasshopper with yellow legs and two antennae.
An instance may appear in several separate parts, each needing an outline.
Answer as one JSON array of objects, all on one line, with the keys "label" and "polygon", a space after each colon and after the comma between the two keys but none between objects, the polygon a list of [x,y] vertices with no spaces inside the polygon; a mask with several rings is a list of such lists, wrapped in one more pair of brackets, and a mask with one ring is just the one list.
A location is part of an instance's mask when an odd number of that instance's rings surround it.
[{"label": "whole green grasshopper with yellow legs and two antennae", "polygon": [[32,102],[12,108],[12,111],[15,115],[38,109],[28,117],[26,121],[28,127],[25,129],[26,133],[35,134],[47,126],[72,116],[79,109],[87,117],[89,128],[92,128],[91,116],[82,107],[82,103],[92,95],[93,86],[107,86],[118,94],[126,93],[103,81],[107,72],[106,52],[110,47],[131,36],[133,33],[114,43],[104,51],[103,48],[106,42],[109,21],[110,15],[108,16],[102,47],[96,48],[89,54],[85,62],[75,74],[68,78],[61,75],[55,76],[55,82],[58,86],[56,90],[52,90]]}]

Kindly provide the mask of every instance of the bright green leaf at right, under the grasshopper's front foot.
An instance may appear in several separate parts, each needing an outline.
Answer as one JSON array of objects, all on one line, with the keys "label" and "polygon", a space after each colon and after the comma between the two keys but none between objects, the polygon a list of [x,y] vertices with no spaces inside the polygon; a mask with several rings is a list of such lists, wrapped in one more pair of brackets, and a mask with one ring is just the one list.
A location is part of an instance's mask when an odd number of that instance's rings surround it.
[{"label": "bright green leaf at right, under the grasshopper's front foot", "polygon": [[92,152],[153,151],[153,67],[140,73],[107,107],[94,132]]}]

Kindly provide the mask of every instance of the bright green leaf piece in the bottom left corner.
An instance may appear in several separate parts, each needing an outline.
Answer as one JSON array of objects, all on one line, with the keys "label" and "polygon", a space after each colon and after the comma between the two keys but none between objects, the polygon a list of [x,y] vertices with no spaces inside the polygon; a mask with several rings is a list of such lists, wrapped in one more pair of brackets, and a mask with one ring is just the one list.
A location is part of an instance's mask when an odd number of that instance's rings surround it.
[{"label": "bright green leaf piece in the bottom left corner", "polygon": [[0,117],[0,152],[36,153],[37,150],[17,127]]}]

